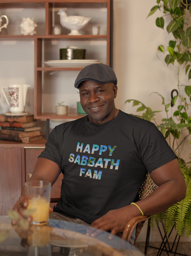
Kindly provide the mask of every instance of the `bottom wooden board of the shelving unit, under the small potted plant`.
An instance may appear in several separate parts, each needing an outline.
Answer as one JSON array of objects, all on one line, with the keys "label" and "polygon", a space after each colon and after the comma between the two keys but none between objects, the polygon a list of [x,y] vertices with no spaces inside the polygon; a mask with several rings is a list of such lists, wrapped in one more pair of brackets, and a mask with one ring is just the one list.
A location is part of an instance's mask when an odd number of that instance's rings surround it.
[{"label": "bottom wooden board of the shelving unit, under the small potted plant", "polygon": [[68,113],[66,115],[57,115],[56,113],[38,113],[34,114],[35,119],[79,119],[85,115]]}]

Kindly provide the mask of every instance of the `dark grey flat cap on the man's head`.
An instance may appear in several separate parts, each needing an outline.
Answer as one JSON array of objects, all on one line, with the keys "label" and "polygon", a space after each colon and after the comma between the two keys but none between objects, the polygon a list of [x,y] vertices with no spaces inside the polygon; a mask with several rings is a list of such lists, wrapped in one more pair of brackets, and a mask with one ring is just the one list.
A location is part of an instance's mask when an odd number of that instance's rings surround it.
[{"label": "dark grey flat cap on the man's head", "polygon": [[114,85],[118,82],[113,69],[101,63],[94,63],[83,68],[78,74],[74,86],[79,88],[83,81],[94,81],[99,84],[113,83]]}]

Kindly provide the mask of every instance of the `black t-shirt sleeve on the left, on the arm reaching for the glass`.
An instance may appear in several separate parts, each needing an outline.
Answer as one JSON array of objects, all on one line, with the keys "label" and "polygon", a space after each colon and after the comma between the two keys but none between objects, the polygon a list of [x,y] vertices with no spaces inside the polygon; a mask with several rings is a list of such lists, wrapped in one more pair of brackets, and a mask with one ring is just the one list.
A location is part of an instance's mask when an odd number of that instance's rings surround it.
[{"label": "black t-shirt sleeve on the left, on the arm reaching for the glass", "polygon": [[40,154],[39,157],[44,157],[57,163],[60,169],[62,169],[62,157],[60,154],[60,146],[56,134],[56,128],[54,128],[49,135],[44,151]]}]

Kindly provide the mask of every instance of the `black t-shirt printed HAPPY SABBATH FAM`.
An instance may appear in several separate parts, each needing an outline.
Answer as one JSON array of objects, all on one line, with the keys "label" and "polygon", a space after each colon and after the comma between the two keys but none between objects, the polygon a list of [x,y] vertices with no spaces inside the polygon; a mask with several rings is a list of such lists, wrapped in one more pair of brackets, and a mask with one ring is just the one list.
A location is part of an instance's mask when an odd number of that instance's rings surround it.
[{"label": "black t-shirt printed HAPPY SABBATH FAM", "polygon": [[137,200],[147,171],[176,155],[152,122],[119,111],[101,125],[86,116],[56,126],[39,157],[64,175],[54,211],[92,223]]}]

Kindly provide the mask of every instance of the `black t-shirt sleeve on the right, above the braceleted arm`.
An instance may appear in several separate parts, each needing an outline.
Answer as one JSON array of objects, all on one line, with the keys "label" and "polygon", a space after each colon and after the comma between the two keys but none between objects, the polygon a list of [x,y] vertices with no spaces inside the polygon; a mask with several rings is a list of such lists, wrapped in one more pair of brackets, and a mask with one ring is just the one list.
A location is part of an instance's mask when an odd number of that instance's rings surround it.
[{"label": "black t-shirt sleeve on the right, above the braceleted arm", "polygon": [[140,151],[142,161],[149,174],[162,165],[178,158],[154,123],[145,134],[140,144]]}]

